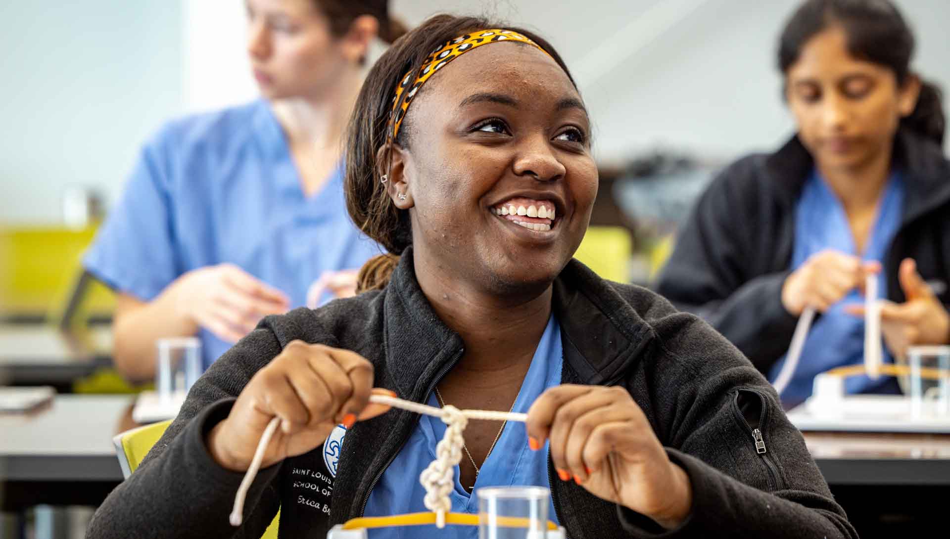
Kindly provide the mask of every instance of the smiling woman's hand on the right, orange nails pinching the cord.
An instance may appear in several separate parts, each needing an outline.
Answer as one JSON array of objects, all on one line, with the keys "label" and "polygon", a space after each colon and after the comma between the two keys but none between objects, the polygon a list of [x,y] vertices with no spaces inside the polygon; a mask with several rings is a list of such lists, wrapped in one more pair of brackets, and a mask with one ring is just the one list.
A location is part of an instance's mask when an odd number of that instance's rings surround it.
[{"label": "smiling woman's hand on the right, orange nails pinching the cord", "polygon": [[690,514],[690,478],[666,455],[650,422],[622,387],[561,385],[528,410],[531,449],[551,441],[561,480],[649,516],[666,529]]}]

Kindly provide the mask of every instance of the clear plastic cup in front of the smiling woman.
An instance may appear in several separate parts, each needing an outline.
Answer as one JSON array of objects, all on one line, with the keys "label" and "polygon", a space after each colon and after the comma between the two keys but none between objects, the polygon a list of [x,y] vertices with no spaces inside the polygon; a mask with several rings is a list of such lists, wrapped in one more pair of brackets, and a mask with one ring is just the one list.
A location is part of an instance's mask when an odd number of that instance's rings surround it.
[{"label": "clear plastic cup in front of the smiling woman", "polygon": [[479,539],[543,539],[551,492],[544,487],[488,487],[478,494]]}]

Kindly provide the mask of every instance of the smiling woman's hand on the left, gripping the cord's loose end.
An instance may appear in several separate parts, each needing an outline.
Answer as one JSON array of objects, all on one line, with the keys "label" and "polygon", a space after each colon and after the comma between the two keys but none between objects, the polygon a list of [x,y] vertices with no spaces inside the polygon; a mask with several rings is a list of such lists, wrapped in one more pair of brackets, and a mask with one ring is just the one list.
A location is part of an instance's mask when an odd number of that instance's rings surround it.
[{"label": "smiling woman's hand on the left, gripping the cord's loose end", "polygon": [[350,350],[293,341],[257,371],[231,413],[208,434],[207,446],[222,467],[245,472],[267,424],[280,418],[261,467],[313,450],[333,427],[375,418],[390,407],[370,404],[372,363]]}]

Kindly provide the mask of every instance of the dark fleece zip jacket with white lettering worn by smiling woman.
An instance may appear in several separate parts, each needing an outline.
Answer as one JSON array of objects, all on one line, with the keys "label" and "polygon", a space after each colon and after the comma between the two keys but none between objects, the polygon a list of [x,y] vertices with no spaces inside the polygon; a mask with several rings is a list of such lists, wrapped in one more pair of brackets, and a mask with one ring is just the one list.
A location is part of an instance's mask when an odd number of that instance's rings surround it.
[{"label": "dark fleece zip jacket with white lettering worn by smiling woman", "polygon": [[[465,344],[428,304],[411,259],[409,250],[385,290],[268,317],[221,356],[142,466],[96,511],[88,537],[257,539],[278,505],[282,537],[324,537],[361,515],[417,415],[392,410],[357,423],[335,477],[323,448],[262,470],[237,533],[228,513],[241,474],[220,468],[204,437],[257,370],[295,339],[354,350],[375,365],[376,386],[425,401]],[[554,284],[553,309],[561,324],[561,381],[622,384],[690,476],[693,512],[663,536],[856,536],[768,382],[709,325],[644,288],[603,281],[576,261]],[[764,435],[764,454],[756,453],[753,428]],[[572,482],[550,483],[570,537],[654,536],[656,525],[642,515]]]}]

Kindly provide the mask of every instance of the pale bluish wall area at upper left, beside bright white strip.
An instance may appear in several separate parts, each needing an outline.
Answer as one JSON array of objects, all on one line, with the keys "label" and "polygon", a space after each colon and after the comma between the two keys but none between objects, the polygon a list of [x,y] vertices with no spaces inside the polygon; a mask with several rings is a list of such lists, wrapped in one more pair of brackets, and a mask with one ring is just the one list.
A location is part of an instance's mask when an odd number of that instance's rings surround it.
[{"label": "pale bluish wall area at upper left, beside bright white strip", "polygon": [[0,222],[56,223],[68,186],[118,194],[180,111],[180,4],[6,1],[0,22]]}]

